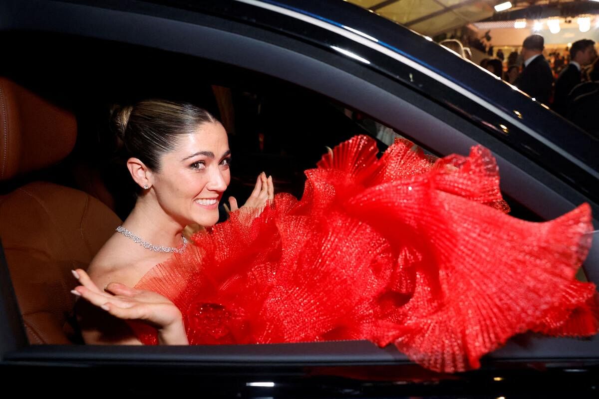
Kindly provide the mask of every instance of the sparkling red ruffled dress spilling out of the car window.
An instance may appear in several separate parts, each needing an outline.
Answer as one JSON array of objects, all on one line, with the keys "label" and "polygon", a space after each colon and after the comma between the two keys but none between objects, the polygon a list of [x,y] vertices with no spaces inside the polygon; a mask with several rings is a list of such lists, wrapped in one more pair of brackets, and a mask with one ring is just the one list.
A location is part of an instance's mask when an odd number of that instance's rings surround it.
[{"label": "sparkling red ruffled dress spilling out of the car window", "polygon": [[171,299],[192,344],[367,339],[437,371],[479,367],[527,330],[597,333],[595,285],[574,278],[587,204],[523,221],[483,147],[436,162],[404,140],[377,153],[366,136],[338,145],[305,172],[301,200],[232,212],[136,288]]}]

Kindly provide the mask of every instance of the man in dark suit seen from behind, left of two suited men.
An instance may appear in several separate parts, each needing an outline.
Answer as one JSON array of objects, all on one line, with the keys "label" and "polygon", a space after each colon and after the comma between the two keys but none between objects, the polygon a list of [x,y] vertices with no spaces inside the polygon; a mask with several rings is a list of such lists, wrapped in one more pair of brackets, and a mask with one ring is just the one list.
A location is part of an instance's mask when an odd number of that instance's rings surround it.
[{"label": "man in dark suit seen from behind, left of two suited men", "polygon": [[543,57],[544,40],[541,35],[530,35],[522,42],[524,69],[514,85],[522,92],[544,104],[549,104],[553,86],[553,72]]}]

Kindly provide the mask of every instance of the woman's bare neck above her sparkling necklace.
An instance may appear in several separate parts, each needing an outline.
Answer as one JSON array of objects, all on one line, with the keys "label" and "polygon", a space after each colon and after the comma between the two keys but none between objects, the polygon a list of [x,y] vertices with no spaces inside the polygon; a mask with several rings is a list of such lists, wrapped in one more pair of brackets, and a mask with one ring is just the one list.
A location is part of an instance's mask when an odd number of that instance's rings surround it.
[{"label": "woman's bare neck above her sparkling necklace", "polygon": [[140,196],[123,227],[153,245],[181,245],[184,226],[173,220],[148,194]]}]

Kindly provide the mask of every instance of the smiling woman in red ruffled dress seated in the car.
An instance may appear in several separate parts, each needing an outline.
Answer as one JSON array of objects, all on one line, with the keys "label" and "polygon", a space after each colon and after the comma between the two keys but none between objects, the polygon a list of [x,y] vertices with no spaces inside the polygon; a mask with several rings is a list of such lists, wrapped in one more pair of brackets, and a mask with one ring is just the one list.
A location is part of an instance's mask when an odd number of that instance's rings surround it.
[{"label": "smiling woman in red ruffled dress seated in the car", "polygon": [[[125,139],[135,124],[150,123],[135,112]],[[193,119],[189,131],[170,120],[186,118],[168,112],[153,118],[186,133],[164,149],[158,138],[143,144],[161,148],[154,163],[129,159],[147,188],[123,227],[173,246],[174,255],[167,260],[115,234],[91,279],[76,270],[76,295],[134,321],[135,335],[108,340],[101,333],[117,331],[116,319],[104,325],[95,316],[86,342],[368,339],[393,343],[432,370],[459,371],[527,330],[597,332],[595,286],[574,279],[591,241],[589,206],[546,223],[510,217],[495,160],[480,146],[468,157],[433,160],[399,139],[379,157],[373,139],[356,136],[305,172],[301,200],[273,199],[262,175],[248,204],[261,214],[232,212],[179,251],[185,224],[216,223],[228,146],[212,118]],[[132,154],[144,154],[134,144]],[[98,288],[105,284],[108,292]]]}]

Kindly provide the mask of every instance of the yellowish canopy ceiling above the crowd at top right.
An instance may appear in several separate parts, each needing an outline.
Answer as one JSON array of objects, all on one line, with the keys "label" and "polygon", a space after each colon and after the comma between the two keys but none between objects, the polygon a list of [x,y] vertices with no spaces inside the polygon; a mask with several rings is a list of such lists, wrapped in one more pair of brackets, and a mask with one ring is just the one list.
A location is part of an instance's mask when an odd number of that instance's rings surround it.
[{"label": "yellowish canopy ceiling above the crowd at top right", "polygon": [[[511,8],[495,11],[507,0],[347,0],[427,36],[436,36],[476,22],[576,18],[599,14],[599,0],[510,0]],[[506,26],[507,26],[506,25]],[[593,26],[593,29],[595,26]]]}]

